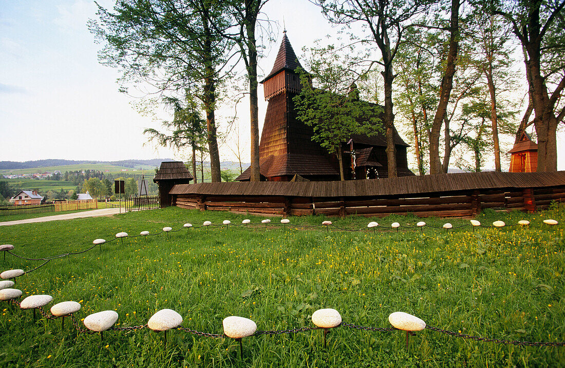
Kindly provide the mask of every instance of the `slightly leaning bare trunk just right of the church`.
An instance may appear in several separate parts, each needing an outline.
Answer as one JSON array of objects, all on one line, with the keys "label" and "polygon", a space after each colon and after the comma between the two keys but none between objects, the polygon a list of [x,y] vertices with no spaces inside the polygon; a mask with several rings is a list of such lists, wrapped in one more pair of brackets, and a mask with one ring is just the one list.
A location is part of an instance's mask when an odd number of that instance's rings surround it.
[{"label": "slightly leaning bare trunk just right of the church", "polygon": [[440,161],[440,132],[442,122],[447,111],[447,104],[453,88],[453,76],[459,49],[459,3],[460,0],[451,0],[451,20],[449,23],[449,52],[447,52],[445,74],[441,78],[440,102],[436,115],[433,118],[432,130],[429,139],[429,173],[442,173]]}]

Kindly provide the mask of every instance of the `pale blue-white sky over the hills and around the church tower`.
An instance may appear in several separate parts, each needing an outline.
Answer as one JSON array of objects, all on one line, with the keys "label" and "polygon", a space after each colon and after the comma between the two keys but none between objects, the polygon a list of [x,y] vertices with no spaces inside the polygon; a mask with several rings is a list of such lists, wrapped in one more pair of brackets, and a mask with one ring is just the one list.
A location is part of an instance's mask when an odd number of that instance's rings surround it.
[{"label": "pale blue-white sky over the hills and around the church tower", "polygon": [[[111,7],[113,1],[98,1]],[[300,57],[303,46],[338,31],[307,0],[271,0],[264,7],[275,22],[276,40],[259,60],[260,73],[271,71],[286,27]],[[99,160],[173,158],[184,152],[147,143],[145,128],[160,120],[140,115],[136,98],[121,94],[116,69],[98,62],[101,45],[86,23],[96,17],[89,0],[0,1],[0,161],[40,159]],[[267,108],[259,87],[259,129]],[[249,145],[249,105],[237,108],[240,139]],[[224,116],[233,111],[223,111]],[[170,119],[158,111],[159,119]],[[220,114],[222,115],[222,114]],[[218,121],[223,129],[225,121]],[[558,168],[565,169],[565,134],[558,137]],[[223,160],[235,160],[232,135],[220,146]],[[249,149],[244,151],[249,162]]]}]

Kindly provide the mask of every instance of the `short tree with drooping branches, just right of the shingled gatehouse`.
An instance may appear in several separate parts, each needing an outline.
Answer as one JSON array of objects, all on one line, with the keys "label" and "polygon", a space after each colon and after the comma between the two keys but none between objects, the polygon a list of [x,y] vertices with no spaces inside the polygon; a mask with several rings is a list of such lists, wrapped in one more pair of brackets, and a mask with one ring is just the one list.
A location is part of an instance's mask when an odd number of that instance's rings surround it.
[{"label": "short tree with drooping branches, just right of the shingled gatehouse", "polygon": [[144,134],[149,135],[150,141],[157,141],[163,147],[168,146],[181,150],[185,146],[189,146],[192,149],[192,176],[194,183],[197,183],[196,151],[205,150],[206,123],[201,119],[197,104],[188,90],[185,93],[185,107],[182,107],[177,98],[167,97],[165,103],[172,107],[174,111],[172,121],[163,121],[163,128],[166,133],[148,128],[144,130]]}]

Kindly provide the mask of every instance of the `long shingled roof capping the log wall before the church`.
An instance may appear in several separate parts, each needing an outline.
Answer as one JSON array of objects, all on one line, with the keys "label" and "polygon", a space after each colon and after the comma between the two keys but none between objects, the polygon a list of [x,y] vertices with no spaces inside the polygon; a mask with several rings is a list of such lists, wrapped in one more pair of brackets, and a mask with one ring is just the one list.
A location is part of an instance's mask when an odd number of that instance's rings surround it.
[{"label": "long shingled roof capping the log wall before the church", "polygon": [[424,194],[489,188],[537,188],[565,185],[565,171],[538,173],[458,173],[331,182],[231,182],[177,184],[169,194],[265,195],[298,197]]}]

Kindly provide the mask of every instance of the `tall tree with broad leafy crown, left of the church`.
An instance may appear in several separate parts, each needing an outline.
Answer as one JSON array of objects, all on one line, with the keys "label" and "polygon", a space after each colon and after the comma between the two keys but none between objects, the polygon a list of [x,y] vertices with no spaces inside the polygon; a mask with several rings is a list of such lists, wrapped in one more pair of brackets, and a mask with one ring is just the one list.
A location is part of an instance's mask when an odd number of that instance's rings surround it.
[{"label": "tall tree with broad leafy crown, left of the church", "polygon": [[[215,110],[219,81],[233,67],[233,42],[219,0],[122,0],[114,11],[98,5],[90,29],[106,43],[102,62],[123,70],[123,87],[148,83],[159,91],[197,90],[206,111],[212,182],[221,181]],[[127,90],[124,88],[124,90]]]}]

